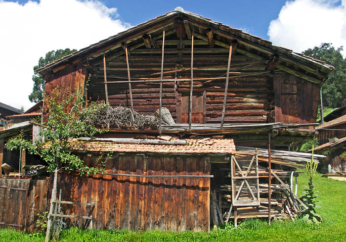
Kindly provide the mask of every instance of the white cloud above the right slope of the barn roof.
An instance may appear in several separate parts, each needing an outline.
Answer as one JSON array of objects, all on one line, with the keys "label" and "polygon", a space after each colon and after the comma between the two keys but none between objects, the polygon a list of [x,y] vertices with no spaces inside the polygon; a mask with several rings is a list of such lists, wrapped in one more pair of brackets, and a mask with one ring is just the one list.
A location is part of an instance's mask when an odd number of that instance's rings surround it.
[{"label": "white cloud above the right slope of the barn roof", "polygon": [[346,0],[338,3],[336,0],[286,1],[278,18],[270,22],[269,40],[295,52],[321,43],[346,48]]}]

